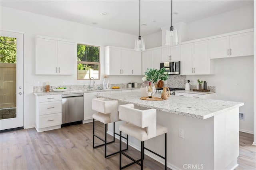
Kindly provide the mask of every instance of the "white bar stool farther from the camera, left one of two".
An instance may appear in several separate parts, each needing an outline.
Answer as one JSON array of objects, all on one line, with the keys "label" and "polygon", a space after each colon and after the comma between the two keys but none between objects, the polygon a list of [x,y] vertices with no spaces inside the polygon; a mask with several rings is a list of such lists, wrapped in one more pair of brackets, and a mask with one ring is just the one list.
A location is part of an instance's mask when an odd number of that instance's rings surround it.
[{"label": "white bar stool farther from the camera, left one of two", "polygon": [[[119,151],[114,152],[112,154],[107,155],[106,154],[106,147],[107,144],[110,144],[112,142],[115,142],[115,134],[117,134],[119,136],[118,133],[115,132],[115,122],[116,121],[121,121],[118,118],[118,101],[107,101],[104,98],[96,98],[96,99],[92,99],[92,109],[97,111],[98,113],[94,113],[92,115],[93,118],[93,137],[92,137],[92,147],[93,148],[97,148],[100,146],[105,146],[105,153],[104,156],[105,158],[107,158],[108,156],[112,156],[114,154],[119,153]],[[94,119],[100,121],[101,123],[105,124],[105,139],[100,138],[100,136],[97,136],[96,134],[94,134],[95,128],[94,128]],[[107,142],[107,124],[108,123],[112,123],[113,122],[113,126],[114,126],[114,130],[113,130],[113,141]],[[94,146],[94,136],[99,138],[100,140],[102,140],[104,142],[104,144],[100,144],[98,146]],[[122,136],[123,138],[125,138],[124,136]],[[126,135],[126,140],[128,139],[128,135]],[[128,142],[126,144],[126,149],[124,150],[128,150]]]}]

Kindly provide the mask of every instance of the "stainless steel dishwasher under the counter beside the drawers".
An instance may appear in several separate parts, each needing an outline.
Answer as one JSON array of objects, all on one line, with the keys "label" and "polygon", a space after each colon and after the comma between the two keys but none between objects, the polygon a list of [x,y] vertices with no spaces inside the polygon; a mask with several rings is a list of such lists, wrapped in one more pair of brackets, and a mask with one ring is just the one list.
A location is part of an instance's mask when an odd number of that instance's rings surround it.
[{"label": "stainless steel dishwasher under the counter beside the drawers", "polygon": [[84,93],[62,95],[62,126],[84,120]]}]

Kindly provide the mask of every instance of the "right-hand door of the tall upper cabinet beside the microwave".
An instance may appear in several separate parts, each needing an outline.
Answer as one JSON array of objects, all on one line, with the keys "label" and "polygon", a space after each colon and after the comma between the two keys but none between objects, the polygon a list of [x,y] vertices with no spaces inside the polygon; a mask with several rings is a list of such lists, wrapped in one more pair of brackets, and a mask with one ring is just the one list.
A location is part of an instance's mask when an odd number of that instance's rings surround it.
[{"label": "right-hand door of the tall upper cabinet beside the microwave", "polygon": [[210,74],[210,40],[194,43],[194,74]]}]

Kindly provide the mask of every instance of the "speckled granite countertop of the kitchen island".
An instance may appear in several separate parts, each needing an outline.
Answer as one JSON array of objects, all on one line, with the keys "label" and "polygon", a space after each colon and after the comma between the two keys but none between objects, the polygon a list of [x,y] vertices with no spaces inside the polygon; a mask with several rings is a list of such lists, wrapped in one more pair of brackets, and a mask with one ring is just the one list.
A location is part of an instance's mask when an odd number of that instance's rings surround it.
[{"label": "speckled granite countertop of the kitchen island", "polygon": [[[119,93],[105,93],[96,96],[198,119],[207,119],[213,117],[214,115],[225,113],[228,110],[244,105],[244,103],[241,102],[192,98],[175,95],[170,95],[167,100],[163,101],[147,101],[140,99],[140,93],[132,92],[124,92],[122,95]],[[161,97],[161,94],[155,94],[154,97]]]}]

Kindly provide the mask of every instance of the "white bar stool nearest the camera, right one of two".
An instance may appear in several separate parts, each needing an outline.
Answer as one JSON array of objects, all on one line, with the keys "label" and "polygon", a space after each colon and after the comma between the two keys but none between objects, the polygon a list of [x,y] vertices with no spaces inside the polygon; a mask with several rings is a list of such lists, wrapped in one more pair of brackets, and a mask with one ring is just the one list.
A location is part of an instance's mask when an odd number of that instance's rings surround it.
[{"label": "white bar stool nearest the camera, right one of two", "polygon": [[[144,159],[144,149],[152,152],[153,154],[156,154],[160,158],[164,159],[164,166],[166,170],[166,133],[167,133],[167,127],[163,127],[161,125],[156,124],[156,109],[148,109],[148,110],[139,110],[134,109],[133,104],[128,105],[120,105],[119,106],[119,119],[125,121],[126,123],[124,125],[119,126],[120,130],[120,136],[122,132],[126,133],[127,135],[130,135],[138,140],[141,141],[140,145],[140,159],[134,160],[129,155],[127,155],[125,152],[122,151],[121,147],[121,138],[120,138],[120,163],[119,168],[120,170],[123,168],[126,168],[127,166],[130,166],[134,163],[140,165],[140,169],[143,169],[143,159]],[[161,156],[160,154],[157,154],[156,152],[153,152],[152,150],[149,150],[148,148],[144,147],[144,141],[148,140],[150,138],[154,138],[156,136],[159,136],[161,134],[164,134],[164,156]],[[128,143],[128,140],[127,140]],[[125,166],[122,166],[122,154],[126,157],[128,157],[133,162],[130,164],[127,164]],[[140,163],[139,163],[140,161]]]}]

